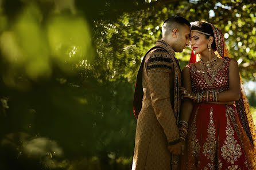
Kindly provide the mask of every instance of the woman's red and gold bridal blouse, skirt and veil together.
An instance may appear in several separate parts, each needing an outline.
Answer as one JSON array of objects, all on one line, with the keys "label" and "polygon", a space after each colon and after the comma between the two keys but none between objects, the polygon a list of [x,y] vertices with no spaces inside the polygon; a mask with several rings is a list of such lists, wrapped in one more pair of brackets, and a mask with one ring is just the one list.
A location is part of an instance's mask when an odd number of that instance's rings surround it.
[{"label": "woman's red and gold bridal blouse, skirt and veil together", "polygon": [[[228,89],[230,58],[221,31],[211,25],[216,55],[225,58],[217,72],[197,70],[198,56],[191,54],[189,72],[194,93]],[[200,103],[189,120],[181,169],[256,170],[256,131],[241,80],[241,97],[234,105]]]}]

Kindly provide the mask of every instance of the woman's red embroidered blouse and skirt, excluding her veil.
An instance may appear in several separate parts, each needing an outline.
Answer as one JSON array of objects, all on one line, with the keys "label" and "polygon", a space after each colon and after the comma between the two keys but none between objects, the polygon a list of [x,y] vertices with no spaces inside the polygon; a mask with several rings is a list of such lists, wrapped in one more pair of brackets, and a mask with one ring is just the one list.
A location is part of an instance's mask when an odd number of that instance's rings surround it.
[{"label": "woman's red embroidered blouse and skirt, excluding her veil", "polygon": [[[227,90],[229,62],[230,58],[226,58],[217,72],[210,74],[189,64],[193,92]],[[251,169],[247,157],[253,145],[234,105],[195,105],[187,141],[187,169]]]}]

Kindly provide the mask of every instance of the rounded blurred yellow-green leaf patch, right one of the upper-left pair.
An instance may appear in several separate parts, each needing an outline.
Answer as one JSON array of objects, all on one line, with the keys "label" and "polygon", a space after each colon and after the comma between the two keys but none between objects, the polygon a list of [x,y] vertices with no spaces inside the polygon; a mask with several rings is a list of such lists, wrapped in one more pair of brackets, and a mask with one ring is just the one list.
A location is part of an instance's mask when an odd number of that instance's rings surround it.
[{"label": "rounded blurred yellow-green leaf patch, right one of the upper-left pair", "polygon": [[91,34],[88,24],[81,17],[56,15],[49,20],[47,36],[52,56],[63,70],[65,63],[93,60]]}]

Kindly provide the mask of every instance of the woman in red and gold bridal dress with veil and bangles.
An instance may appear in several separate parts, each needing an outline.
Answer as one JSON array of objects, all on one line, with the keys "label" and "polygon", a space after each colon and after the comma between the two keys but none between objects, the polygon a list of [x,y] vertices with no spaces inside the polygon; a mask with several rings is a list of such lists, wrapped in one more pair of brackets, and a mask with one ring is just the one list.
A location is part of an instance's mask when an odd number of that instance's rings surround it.
[{"label": "woman in red and gold bridal dress with veil and bangles", "polygon": [[228,57],[221,31],[192,22],[191,48],[181,88],[179,129],[186,139],[181,169],[256,169],[253,119],[243,101],[238,63]]}]

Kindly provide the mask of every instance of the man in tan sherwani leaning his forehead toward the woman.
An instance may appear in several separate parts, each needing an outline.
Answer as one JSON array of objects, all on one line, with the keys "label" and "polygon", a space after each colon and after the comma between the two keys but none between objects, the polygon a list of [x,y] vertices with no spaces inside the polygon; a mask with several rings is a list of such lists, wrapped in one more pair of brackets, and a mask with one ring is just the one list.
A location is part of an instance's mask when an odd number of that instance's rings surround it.
[{"label": "man in tan sherwani leaning his forehead toward the woman", "polygon": [[183,149],[177,122],[181,72],[175,52],[189,45],[190,23],[174,16],[162,25],[162,38],[142,60],[134,92],[138,118],[133,170],[177,169]]}]

